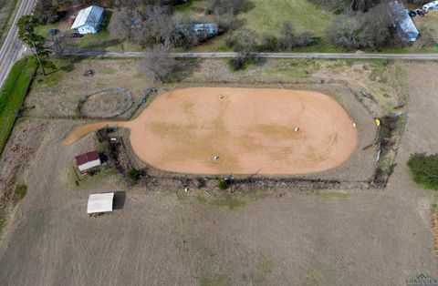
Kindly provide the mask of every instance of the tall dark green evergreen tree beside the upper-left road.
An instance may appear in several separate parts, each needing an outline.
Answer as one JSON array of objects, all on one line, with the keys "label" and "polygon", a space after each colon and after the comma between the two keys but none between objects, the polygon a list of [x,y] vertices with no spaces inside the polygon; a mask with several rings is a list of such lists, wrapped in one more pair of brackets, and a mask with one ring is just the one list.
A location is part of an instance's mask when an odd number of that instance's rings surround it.
[{"label": "tall dark green evergreen tree beside the upper-left road", "polygon": [[18,38],[30,48],[32,53],[36,56],[39,66],[43,71],[43,75],[46,76],[44,66],[49,63],[47,60],[48,51],[45,46],[46,39],[44,36],[37,35],[35,33],[35,27],[37,25],[37,19],[33,15],[23,15],[16,26],[18,26]]}]

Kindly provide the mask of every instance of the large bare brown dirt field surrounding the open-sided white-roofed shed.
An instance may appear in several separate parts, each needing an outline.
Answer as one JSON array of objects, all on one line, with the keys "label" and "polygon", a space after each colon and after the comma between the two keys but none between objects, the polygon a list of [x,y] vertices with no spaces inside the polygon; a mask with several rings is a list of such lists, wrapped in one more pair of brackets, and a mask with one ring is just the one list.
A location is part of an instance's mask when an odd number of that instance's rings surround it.
[{"label": "large bare brown dirt field surrounding the open-sided white-roofed shed", "polygon": [[[419,271],[438,276],[432,192],[406,169],[412,152],[436,152],[438,66],[408,64],[409,120],[387,189],[214,197],[202,189],[127,188],[102,179],[68,182],[74,156],[92,136],[65,147],[77,122],[50,120],[36,155],[16,179],[28,194],[0,248],[3,285],[402,285]],[[39,119],[30,118],[29,121]],[[37,121],[40,122],[40,121]],[[11,142],[32,132],[17,129]],[[8,144],[5,152],[11,152]],[[10,155],[5,155],[10,156]],[[12,158],[12,157],[11,157]],[[112,178],[112,177],[111,177]],[[123,209],[86,215],[89,193],[127,190]]]}]

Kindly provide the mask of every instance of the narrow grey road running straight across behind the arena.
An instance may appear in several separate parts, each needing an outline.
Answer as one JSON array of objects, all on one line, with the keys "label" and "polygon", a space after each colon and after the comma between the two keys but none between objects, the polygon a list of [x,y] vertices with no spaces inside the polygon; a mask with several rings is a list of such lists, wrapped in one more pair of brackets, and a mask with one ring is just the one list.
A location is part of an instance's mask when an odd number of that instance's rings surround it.
[{"label": "narrow grey road running straight across behind the arena", "polygon": [[[66,51],[68,56],[114,56],[114,57],[147,57],[145,52],[108,52],[108,51]],[[236,53],[171,53],[174,57],[233,57]],[[354,53],[253,53],[252,56],[270,58],[353,58],[353,59],[408,59],[438,60],[436,54],[354,54]]]}]

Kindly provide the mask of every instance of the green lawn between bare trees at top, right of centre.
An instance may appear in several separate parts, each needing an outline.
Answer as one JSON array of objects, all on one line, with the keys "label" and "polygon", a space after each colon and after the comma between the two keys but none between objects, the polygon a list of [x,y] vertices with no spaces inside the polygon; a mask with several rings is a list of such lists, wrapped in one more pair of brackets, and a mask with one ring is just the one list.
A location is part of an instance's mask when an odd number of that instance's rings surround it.
[{"label": "green lawn between bare trees at top, right of centre", "polygon": [[254,7],[241,15],[245,27],[258,33],[277,34],[283,22],[292,22],[297,32],[309,31],[324,36],[334,15],[308,0],[251,0]]}]

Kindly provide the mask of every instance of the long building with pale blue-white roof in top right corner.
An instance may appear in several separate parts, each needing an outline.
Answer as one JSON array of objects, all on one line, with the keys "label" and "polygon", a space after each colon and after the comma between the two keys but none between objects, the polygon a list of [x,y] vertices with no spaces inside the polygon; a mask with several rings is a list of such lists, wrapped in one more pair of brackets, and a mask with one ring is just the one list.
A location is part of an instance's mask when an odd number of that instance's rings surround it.
[{"label": "long building with pale blue-white roof in top right corner", "polygon": [[397,26],[401,36],[408,42],[414,42],[420,33],[415,24],[413,24],[411,16],[408,14],[409,10],[398,1],[393,1],[390,5],[392,7],[392,13],[395,15],[394,24]]}]

